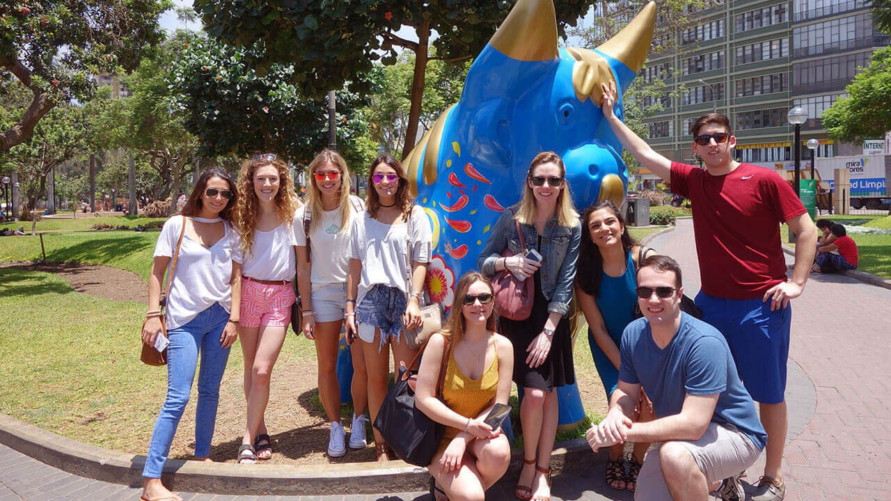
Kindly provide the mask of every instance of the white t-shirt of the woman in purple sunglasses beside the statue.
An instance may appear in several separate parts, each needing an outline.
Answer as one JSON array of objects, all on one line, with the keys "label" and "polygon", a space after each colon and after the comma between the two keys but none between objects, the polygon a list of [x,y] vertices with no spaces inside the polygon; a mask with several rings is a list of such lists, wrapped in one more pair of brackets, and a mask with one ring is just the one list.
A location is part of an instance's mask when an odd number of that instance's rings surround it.
[{"label": "white t-shirt of the woman in purple sunglasses beside the statue", "polygon": [[[405,254],[408,252],[408,225],[388,225],[372,219],[367,211],[362,214],[363,217],[356,218],[353,224],[349,247],[349,257],[362,261],[356,305],[377,283],[396,287],[407,294],[405,274],[409,263]],[[427,214],[418,206],[414,206],[411,228],[412,260],[429,263],[433,233]]]}]

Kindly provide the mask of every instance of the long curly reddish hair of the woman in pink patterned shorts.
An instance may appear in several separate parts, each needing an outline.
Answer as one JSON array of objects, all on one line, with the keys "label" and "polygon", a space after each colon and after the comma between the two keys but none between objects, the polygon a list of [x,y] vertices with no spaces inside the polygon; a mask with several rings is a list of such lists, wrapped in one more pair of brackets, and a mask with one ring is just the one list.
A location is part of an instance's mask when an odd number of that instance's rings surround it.
[{"label": "long curly reddish hair of the woman in pink patterned shorts", "polygon": [[241,234],[241,248],[250,253],[254,247],[254,230],[257,226],[257,209],[259,201],[254,191],[254,173],[257,168],[273,166],[279,174],[279,191],[275,193],[275,211],[282,223],[291,226],[294,211],[298,207],[297,193],[294,193],[294,178],[290,175],[287,164],[281,159],[245,160],[238,173],[238,204],[235,206],[235,226]]}]

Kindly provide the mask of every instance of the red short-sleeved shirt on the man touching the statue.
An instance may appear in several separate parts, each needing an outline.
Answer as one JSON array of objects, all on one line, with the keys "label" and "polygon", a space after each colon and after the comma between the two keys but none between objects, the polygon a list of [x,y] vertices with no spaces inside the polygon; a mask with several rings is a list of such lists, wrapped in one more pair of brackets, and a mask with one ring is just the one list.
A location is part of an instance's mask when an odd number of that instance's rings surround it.
[{"label": "red short-sleeved shirt on the man touching the statue", "polygon": [[806,210],[779,174],[740,163],[712,176],[672,162],[671,189],[692,202],[702,292],[750,300],[786,280],[780,225]]}]

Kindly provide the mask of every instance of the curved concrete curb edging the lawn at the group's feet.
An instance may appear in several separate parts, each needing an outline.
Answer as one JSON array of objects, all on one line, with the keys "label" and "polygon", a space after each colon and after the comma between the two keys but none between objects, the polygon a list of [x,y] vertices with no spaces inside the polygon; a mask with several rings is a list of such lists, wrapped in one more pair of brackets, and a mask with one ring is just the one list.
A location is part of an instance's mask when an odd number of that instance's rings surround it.
[{"label": "curved concrete curb edging the lawn at the group's feet", "polygon": [[[145,456],[98,448],[0,413],[0,443],[62,471],[94,480],[138,486]],[[522,450],[511,451],[505,477],[519,477]],[[605,464],[607,452],[593,453],[584,439],[555,445],[555,472]],[[331,495],[411,492],[428,487],[426,468],[402,461],[312,465],[249,465],[168,460],[162,474],[170,489],[249,495]]]}]

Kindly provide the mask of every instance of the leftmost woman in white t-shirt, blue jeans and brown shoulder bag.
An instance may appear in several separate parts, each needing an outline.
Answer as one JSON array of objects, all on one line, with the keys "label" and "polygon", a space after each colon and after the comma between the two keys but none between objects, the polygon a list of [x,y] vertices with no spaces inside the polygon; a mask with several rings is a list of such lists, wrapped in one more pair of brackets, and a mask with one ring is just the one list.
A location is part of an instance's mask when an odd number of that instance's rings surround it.
[{"label": "leftmost woman in white t-shirt, blue jeans and brown shoulder bag", "polygon": [[[209,461],[210,439],[217,421],[220,380],[229,348],[238,335],[241,266],[238,234],[230,226],[235,185],[228,174],[211,169],[202,174],[181,215],[169,218],[155,245],[149,276],[149,312],[143,341],[154,345],[161,330],[161,284],[168,276],[168,393],[161,407],[143,468],[143,499],[180,499],[161,484],[176,426],[183,416],[198,365],[198,407],[195,411],[195,459]],[[176,242],[181,241],[177,252]],[[235,311],[234,317],[230,312]]]}]

